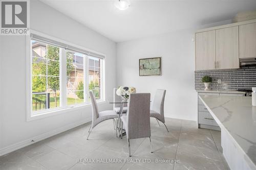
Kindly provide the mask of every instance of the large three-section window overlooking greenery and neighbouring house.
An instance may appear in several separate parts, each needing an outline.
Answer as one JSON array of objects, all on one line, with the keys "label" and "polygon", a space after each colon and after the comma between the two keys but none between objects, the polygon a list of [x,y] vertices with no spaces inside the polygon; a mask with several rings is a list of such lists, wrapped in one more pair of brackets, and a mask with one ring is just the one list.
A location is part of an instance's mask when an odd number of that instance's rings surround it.
[{"label": "large three-section window overlooking greenery and neighbouring house", "polygon": [[90,103],[89,91],[102,101],[103,58],[41,39],[31,39],[32,115]]}]

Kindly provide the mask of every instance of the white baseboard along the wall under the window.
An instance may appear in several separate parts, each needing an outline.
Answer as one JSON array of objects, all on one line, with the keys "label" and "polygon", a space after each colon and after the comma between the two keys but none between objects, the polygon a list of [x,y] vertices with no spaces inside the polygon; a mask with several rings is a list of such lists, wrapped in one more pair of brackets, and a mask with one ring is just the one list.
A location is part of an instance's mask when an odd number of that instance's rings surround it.
[{"label": "white baseboard along the wall under the window", "polygon": [[[70,130],[72,128],[80,126],[82,124],[86,124],[86,123],[88,123],[90,121],[91,121],[91,118],[83,119],[83,120],[80,120],[79,122],[76,122],[74,124],[70,124],[70,125],[67,125],[65,127],[61,127],[61,128],[55,129],[53,131],[50,131],[50,132],[47,132],[47,133],[44,133],[44,134],[32,137],[30,139],[27,139],[27,140],[24,140],[24,141],[21,141],[21,142],[18,142],[18,143],[11,144],[8,147],[0,149],[0,156],[9,154],[9,153],[11,153],[13,151],[16,151],[16,150],[20,149],[20,148],[27,147],[30,144],[33,144],[33,143],[38,142],[40,140],[44,140],[44,139],[49,138],[51,136],[54,136],[56,134],[65,132],[67,130]],[[32,142],[32,140],[34,142]]]}]

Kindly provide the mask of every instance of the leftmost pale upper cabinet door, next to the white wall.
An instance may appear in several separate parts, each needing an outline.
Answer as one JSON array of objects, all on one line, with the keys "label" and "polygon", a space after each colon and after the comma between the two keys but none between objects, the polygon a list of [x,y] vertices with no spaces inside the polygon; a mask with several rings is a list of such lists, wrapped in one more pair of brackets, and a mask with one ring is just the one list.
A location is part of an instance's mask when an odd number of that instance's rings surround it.
[{"label": "leftmost pale upper cabinet door, next to the white wall", "polygon": [[215,69],[215,30],[196,33],[196,70]]}]

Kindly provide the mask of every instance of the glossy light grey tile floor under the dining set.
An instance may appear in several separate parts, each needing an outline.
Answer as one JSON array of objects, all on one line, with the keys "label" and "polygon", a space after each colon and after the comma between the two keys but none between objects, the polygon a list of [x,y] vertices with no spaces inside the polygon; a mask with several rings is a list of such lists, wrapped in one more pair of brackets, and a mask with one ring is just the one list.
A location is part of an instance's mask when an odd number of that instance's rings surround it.
[{"label": "glossy light grey tile floor under the dining set", "polygon": [[[154,153],[150,153],[148,138],[132,139],[129,158],[126,138],[116,138],[113,120],[107,120],[94,128],[89,140],[90,124],[85,124],[2,156],[0,169],[229,169],[219,131],[198,129],[196,122],[173,118],[166,118],[166,126],[169,133],[151,119]],[[134,162],[77,163],[77,159],[117,158]],[[156,159],[180,162],[156,163]]]}]

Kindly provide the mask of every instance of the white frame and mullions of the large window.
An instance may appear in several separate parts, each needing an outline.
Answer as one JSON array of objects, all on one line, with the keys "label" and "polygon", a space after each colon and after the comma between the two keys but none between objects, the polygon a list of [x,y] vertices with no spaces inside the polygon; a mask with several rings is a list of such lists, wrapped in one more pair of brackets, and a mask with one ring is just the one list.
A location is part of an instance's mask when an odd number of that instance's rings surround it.
[{"label": "white frame and mullions of the large window", "polygon": [[[65,43],[77,48],[80,48],[81,50],[85,50],[85,51],[89,51],[101,56],[104,56],[104,59],[101,59],[100,61],[102,62],[102,65],[100,67],[101,69],[101,90],[100,90],[100,94],[101,94],[101,99],[97,100],[97,103],[100,104],[105,104],[105,55],[102,53],[98,53],[95,52],[93,50],[90,50],[88,48],[34,31],[34,30],[30,30],[31,34],[36,34],[39,35],[41,37],[45,37],[45,38],[49,38],[52,39],[54,41],[58,41],[61,43]],[[66,52],[68,50],[63,50],[63,48],[61,48],[62,50],[60,50],[60,58],[59,58],[59,62],[60,62],[60,107],[57,108],[52,108],[52,109],[45,109],[45,110],[40,110],[40,111],[36,111],[36,114],[32,114],[32,57],[31,57],[31,48],[32,48],[32,43],[31,43],[31,37],[26,36],[26,44],[27,44],[27,48],[26,48],[26,102],[27,102],[27,121],[31,121],[31,120],[35,120],[35,119],[40,119],[40,118],[44,118],[44,117],[49,117],[49,116],[53,116],[53,115],[58,115],[58,114],[63,114],[63,113],[67,113],[69,112],[70,114],[72,114],[71,111],[73,110],[78,110],[78,109],[83,109],[83,108],[88,108],[91,106],[91,103],[80,103],[80,104],[75,104],[75,105],[69,105],[67,106],[67,89],[66,89],[66,81],[62,81],[62,80],[67,80],[67,60],[66,60]],[[64,53],[63,53],[64,52]],[[79,53],[79,52],[78,52]],[[85,54],[84,54],[85,55]],[[88,86],[88,81],[89,81],[89,56],[86,55],[86,57],[84,58],[84,100],[86,101],[86,95],[89,95],[89,86]]]}]

